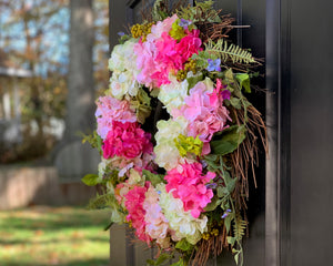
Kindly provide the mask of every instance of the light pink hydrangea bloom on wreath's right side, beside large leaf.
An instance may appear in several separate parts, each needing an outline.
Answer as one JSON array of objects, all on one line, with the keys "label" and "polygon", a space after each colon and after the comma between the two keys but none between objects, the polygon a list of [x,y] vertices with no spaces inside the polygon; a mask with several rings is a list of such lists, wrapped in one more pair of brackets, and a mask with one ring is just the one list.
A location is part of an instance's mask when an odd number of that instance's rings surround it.
[{"label": "light pink hydrangea bloom on wreath's right side, beside large leaf", "polygon": [[203,154],[210,152],[209,142],[215,132],[228,127],[231,120],[229,111],[223,106],[223,98],[216,91],[210,93],[203,82],[191,89],[190,95],[184,99],[185,104],[173,112],[173,116],[183,115],[188,121],[188,135],[196,137],[204,143]]}]

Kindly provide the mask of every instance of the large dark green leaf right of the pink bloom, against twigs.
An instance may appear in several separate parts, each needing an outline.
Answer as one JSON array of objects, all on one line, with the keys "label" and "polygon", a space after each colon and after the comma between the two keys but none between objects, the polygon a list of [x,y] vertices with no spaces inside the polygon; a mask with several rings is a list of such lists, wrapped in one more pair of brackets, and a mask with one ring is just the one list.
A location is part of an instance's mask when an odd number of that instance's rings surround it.
[{"label": "large dark green leaf right of the pink bloom, against twigs", "polygon": [[213,154],[225,155],[232,153],[245,139],[244,125],[233,125],[222,131],[221,139],[211,142]]}]

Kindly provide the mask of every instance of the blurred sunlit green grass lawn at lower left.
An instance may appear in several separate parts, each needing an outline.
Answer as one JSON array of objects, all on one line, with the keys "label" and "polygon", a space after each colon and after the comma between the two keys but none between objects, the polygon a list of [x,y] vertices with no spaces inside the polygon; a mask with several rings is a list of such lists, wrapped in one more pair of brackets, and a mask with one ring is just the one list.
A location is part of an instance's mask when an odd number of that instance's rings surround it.
[{"label": "blurred sunlit green grass lawn at lower left", "polygon": [[107,266],[107,211],[46,207],[0,212],[0,265]]}]

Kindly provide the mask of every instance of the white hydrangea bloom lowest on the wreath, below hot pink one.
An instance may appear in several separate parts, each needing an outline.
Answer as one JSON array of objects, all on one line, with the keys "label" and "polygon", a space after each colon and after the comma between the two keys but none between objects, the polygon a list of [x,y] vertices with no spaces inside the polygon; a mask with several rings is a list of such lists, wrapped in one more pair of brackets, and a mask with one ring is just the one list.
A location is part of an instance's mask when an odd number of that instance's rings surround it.
[{"label": "white hydrangea bloom lowest on the wreath, below hot pink one", "polygon": [[186,238],[186,241],[195,245],[202,233],[208,231],[208,217],[202,215],[202,218],[194,218],[191,212],[184,212],[183,203],[180,198],[174,198],[172,193],[167,193],[165,184],[159,184],[157,190],[160,192],[160,206],[163,211],[169,226],[174,231],[173,241]]}]

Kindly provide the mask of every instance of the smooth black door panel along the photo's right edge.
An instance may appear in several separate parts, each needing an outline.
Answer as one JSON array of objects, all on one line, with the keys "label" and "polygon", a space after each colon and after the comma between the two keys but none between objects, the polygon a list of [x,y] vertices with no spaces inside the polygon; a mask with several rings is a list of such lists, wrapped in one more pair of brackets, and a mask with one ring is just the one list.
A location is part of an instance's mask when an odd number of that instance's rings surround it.
[{"label": "smooth black door panel along the photo's right edge", "polygon": [[290,8],[291,265],[332,265],[333,18],[324,0]]}]

